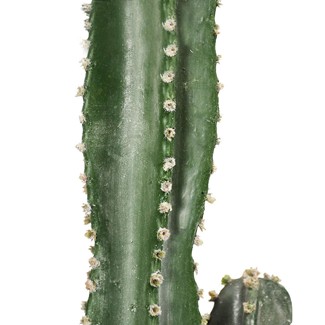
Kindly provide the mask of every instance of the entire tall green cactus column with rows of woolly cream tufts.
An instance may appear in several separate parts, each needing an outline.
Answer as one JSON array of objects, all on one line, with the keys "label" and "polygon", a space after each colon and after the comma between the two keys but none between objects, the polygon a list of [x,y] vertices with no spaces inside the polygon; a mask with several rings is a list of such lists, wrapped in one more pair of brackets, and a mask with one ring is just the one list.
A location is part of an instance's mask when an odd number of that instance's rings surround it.
[{"label": "entire tall green cactus column with rows of woolly cream tufts", "polygon": [[[87,58],[79,117],[94,241],[82,302],[90,324],[201,324],[201,245],[220,121],[215,0],[83,4]],[[174,152],[175,148],[175,152]]]}]

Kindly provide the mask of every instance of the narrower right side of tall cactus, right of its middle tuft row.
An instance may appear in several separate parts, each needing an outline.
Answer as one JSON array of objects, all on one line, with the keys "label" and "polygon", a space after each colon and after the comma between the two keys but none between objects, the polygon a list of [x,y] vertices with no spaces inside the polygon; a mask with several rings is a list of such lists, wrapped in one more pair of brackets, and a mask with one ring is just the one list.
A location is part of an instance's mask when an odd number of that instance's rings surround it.
[{"label": "narrower right side of tall cactus, right of its middle tuft row", "polygon": [[[175,159],[173,191],[162,260],[160,325],[201,323],[198,289],[191,256],[202,241],[196,230],[202,219],[213,170],[212,154],[219,118],[214,13],[216,1],[176,0],[177,70],[175,73]],[[202,226],[202,224],[201,224]]]}]

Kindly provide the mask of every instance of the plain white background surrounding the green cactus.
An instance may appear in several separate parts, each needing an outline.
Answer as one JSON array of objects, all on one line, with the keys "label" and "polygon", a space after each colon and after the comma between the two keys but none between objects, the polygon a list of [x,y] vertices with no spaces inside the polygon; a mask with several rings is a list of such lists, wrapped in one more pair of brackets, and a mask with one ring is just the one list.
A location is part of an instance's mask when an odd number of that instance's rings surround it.
[{"label": "plain white background surrounding the green cactus", "polygon": [[[258,266],[278,275],[294,325],[324,308],[324,11],[322,1],[224,0],[217,74],[223,115],[204,244],[194,247],[201,313],[221,278]],[[2,9],[1,171],[4,324],[78,324],[90,242],[78,61],[80,2],[11,1]],[[112,324],[115,325],[115,324]]]}]

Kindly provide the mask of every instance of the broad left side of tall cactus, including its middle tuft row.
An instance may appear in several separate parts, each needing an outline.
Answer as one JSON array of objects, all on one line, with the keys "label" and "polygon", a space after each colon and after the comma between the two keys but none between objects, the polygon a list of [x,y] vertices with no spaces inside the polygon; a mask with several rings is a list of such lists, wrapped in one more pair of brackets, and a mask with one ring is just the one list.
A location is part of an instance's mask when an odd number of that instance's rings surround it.
[{"label": "broad left side of tall cactus, including its middle tuft row", "polygon": [[159,323],[175,165],[174,85],[164,80],[174,60],[163,50],[170,37],[162,26],[165,3],[83,5],[89,53],[81,60],[84,131],[77,148],[85,160],[85,224],[92,227],[86,236],[95,241],[83,324]]}]

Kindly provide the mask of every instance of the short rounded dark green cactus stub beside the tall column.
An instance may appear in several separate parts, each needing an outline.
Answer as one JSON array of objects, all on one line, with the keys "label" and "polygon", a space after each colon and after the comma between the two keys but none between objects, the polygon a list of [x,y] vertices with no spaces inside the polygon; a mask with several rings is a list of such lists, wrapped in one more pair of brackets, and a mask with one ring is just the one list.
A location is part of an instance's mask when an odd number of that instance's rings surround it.
[{"label": "short rounded dark green cactus stub beside the tall column", "polygon": [[229,282],[214,299],[208,325],[289,325],[291,299],[274,280],[258,279],[256,289],[245,286],[244,279]]}]

